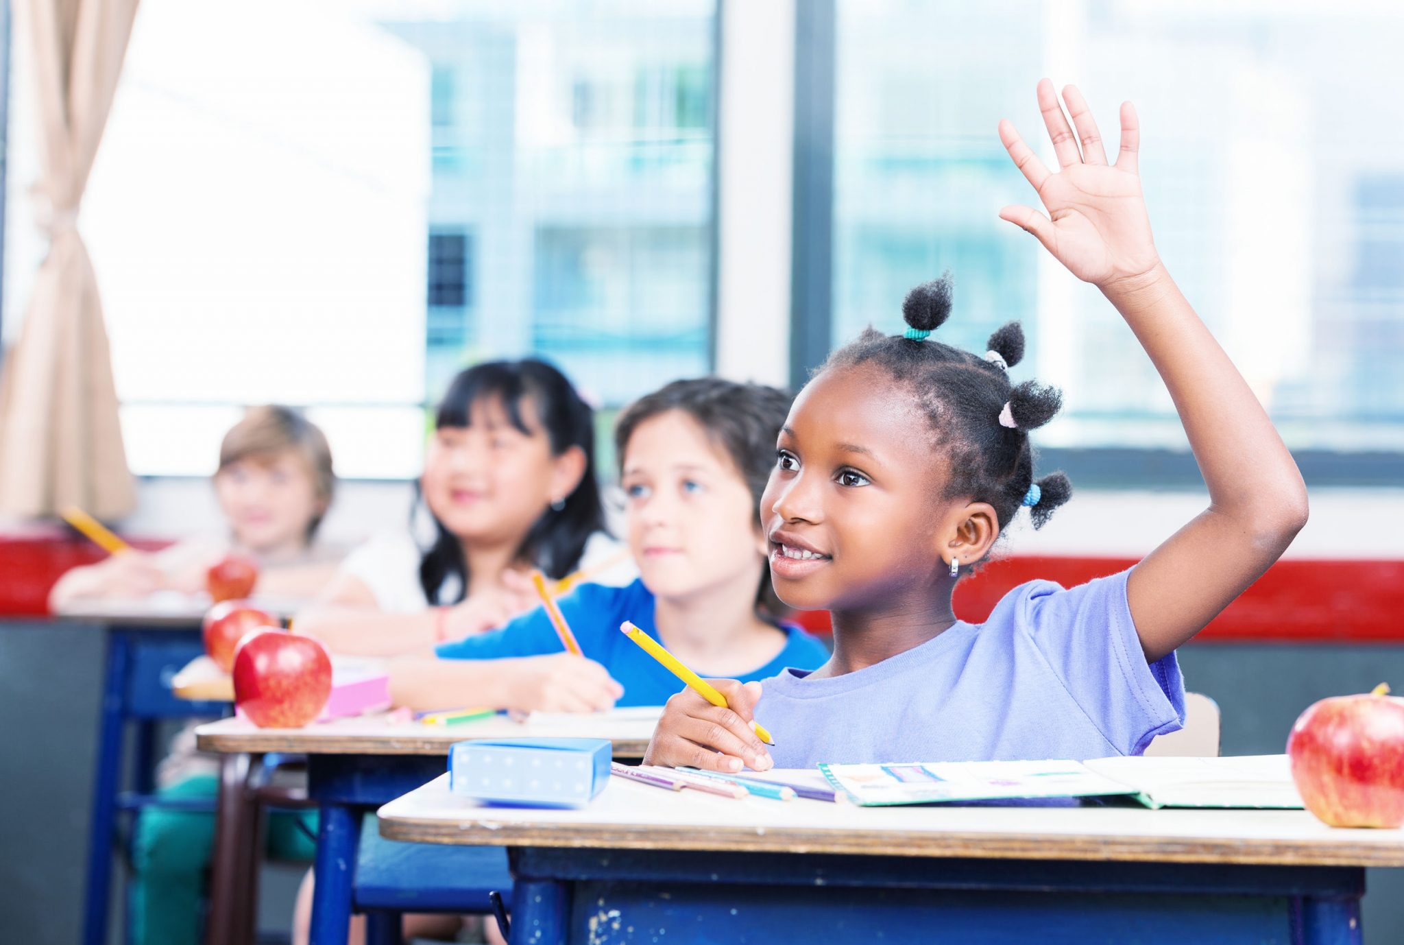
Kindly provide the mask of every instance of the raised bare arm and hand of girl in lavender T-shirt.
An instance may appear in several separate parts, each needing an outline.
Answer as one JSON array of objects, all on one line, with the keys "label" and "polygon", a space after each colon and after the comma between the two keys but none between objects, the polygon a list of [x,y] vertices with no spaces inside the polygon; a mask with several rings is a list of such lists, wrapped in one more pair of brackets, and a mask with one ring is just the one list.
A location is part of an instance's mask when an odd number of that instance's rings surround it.
[{"label": "raised bare arm and hand of girl in lavender T-shirt", "polygon": [[1000,216],[1036,236],[1122,313],[1170,389],[1209,487],[1209,507],[1127,581],[1141,649],[1154,661],[1278,560],[1307,521],[1306,484],[1262,404],[1155,253],[1136,166],[1136,110],[1122,105],[1120,153],[1109,166],[1077,88],[1063,90],[1075,135],[1053,83],[1040,81],[1038,97],[1061,171],[1049,173],[1008,121],[1000,122],[1000,138],[1049,216],[1031,206],[1007,206]]}]

